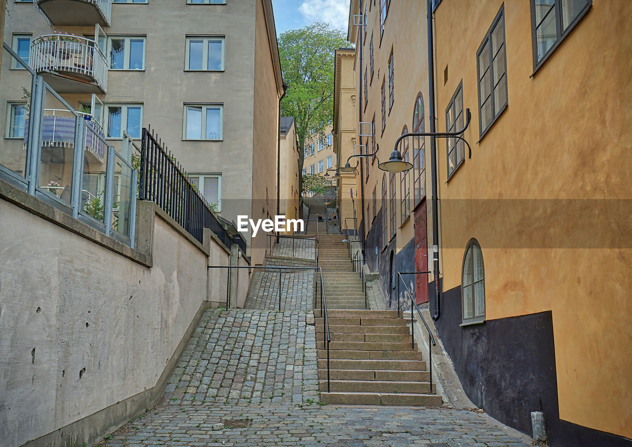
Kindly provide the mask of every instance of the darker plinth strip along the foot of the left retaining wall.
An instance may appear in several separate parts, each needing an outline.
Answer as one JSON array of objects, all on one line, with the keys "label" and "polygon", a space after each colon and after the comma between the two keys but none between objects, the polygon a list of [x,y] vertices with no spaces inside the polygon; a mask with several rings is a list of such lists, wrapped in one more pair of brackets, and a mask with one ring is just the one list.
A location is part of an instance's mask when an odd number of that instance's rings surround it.
[{"label": "darker plinth strip along the foot of the left retaining wall", "polygon": [[[53,431],[49,434],[41,436],[40,438],[33,439],[24,444],[25,446],[92,446],[102,441],[104,436],[118,429],[126,424],[131,419],[134,419],[140,414],[143,414],[145,410],[153,407],[158,400],[162,397],[164,388],[166,388],[171,377],[173,369],[178,363],[180,354],[184,351],[186,345],[188,345],[193,330],[197,327],[202,318],[202,313],[211,307],[210,301],[203,301],[202,305],[198,309],[196,315],[193,317],[193,321],[186,329],[185,334],[180,340],[176,351],[173,356],[167,362],[164,370],[158,382],[153,388],[149,388],[137,395],[121,400],[121,402],[115,403],[105,409],[91,414],[80,421],[73,422],[61,429]],[[0,442],[1,444],[1,442]]]}]

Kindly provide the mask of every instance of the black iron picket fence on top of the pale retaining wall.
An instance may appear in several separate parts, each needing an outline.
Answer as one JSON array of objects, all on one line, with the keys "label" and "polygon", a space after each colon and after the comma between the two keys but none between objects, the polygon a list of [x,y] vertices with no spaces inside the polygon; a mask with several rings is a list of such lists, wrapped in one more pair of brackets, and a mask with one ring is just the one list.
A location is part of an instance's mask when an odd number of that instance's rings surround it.
[{"label": "black iron picket fence on top of the pale retaining wall", "polygon": [[171,152],[162,147],[162,141],[145,128],[139,177],[141,200],[157,204],[200,243],[204,242],[204,228],[209,228],[226,247],[231,247],[231,238],[209,203],[188,180]]}]

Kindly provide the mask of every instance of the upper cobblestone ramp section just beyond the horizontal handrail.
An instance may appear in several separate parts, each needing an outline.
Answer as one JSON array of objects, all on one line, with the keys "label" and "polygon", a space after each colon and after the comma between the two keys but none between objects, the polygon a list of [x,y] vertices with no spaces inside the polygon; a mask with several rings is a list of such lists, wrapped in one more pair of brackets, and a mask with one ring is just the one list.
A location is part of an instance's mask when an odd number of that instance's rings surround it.
[{"label": "upper cobblestone ramp section just beyond the horizontal handrail", "polygon": [[255,272],[246,309],[279,309],[279,275],[281,275],[281,310],[307,312],[313,309],[312,270],[300,272]]}]

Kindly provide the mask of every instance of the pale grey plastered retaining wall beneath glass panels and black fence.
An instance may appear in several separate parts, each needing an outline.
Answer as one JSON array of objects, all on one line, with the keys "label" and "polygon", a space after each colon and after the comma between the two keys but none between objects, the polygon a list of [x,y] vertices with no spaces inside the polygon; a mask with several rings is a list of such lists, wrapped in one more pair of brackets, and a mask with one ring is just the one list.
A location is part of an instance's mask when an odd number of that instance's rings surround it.
[{"label": "pale grey plastered retaining wall beneath glass panels and black fence", "polygon": [[[139,212],[154,209],[139,205]],[[143,400],[177,358],[200,308],[212,304],[205,301],[224,300],[224,276],[207,274],[207,265],[228,264],[226,250],[211,240],[207,256],[164,213],[150,218],[139,222],[153,231],[147,267],[0,199],[3,445],[64,433],[101,410]],[[144,409],[126,403],[118,423]],[[102,424],[114,429],[116,417]],[[89,443],[102,429],[92,425],[83,427],[92,438],[67,429],[66,439]]]}]

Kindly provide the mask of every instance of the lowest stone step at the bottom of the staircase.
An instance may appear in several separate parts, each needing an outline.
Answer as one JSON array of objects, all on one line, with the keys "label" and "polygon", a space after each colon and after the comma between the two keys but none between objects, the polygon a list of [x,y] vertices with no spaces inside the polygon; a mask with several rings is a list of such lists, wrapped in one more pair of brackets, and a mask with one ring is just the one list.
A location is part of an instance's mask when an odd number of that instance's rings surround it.
[{"label": "lowest stone step at the bottom of the staircase", "polygon": [[348,393],[322,392],[320,401],[337,405],[412,405],[420,407],[439,407],[441,396],[436,394],[412,393]]}]

